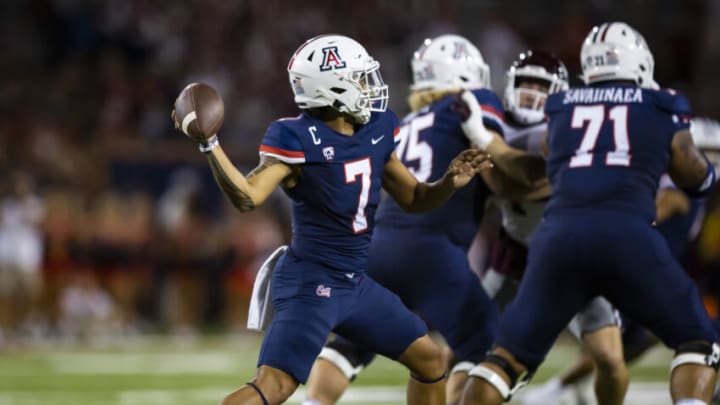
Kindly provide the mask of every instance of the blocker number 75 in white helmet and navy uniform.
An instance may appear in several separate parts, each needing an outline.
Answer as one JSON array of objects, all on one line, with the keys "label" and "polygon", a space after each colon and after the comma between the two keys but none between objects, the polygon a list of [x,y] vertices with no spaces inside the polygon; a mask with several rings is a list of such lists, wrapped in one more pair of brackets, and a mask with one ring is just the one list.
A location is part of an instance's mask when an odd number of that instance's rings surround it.
[{"label": "blocker number 75 in white helmet and navy uniform", "polygon": [[[502,132],[502,104],[490,90],[489,69],[466,38],[426,39],[411,60],[412,112],[400,126],[395,153],[418,181],[437,181],[453,156],[470,141],[452,111],[462,89],[483,108],[483,123]],[[478,178],[441,208],[408,214],[392,199],[381,202],[370,245],[367,273],[397,293],[448,343],[456,365],[448,379],[448,400],[458,403],[467,371],[493,340],[497,314],[470,269],[467,251],[477,233],[489,192]],[[335,338],[320,353],[308,383],[306,404],[334,404],[374,353]]]}]

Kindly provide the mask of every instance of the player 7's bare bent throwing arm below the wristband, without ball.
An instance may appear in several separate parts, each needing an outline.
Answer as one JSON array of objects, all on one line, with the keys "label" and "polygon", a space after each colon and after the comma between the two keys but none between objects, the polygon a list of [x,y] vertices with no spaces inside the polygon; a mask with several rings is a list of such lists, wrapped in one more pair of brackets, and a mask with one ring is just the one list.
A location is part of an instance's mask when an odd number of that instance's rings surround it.
[{"label": "player 7's bare bent throwing arm below the wristband, without ball", "polygon": [[262,204],[293,173],[290,165],[272,156],[262,156],[260,164],[243,176],[220,146],[208,152],[207,158],[220,189],[241,212]]}]

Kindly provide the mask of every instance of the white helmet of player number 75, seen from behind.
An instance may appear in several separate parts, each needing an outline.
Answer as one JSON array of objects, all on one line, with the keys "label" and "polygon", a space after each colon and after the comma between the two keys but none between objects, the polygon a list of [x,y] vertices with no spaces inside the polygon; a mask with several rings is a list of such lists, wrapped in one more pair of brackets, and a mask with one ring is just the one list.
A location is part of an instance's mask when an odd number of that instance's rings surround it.
[{"label": "white helmet of player number 75, seen from behind", "polygon": [[410,90],[490,87],[490,68],[480,51],[459,35],[426,39],[410,64],[413,71]]}]

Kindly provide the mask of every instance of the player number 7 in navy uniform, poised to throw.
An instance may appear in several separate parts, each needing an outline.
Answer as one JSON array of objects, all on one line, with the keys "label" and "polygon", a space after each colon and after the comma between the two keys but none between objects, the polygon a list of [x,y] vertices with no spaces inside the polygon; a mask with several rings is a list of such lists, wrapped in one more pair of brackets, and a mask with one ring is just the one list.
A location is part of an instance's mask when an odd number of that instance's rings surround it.
[{"label": "player number 7 in navy uniform, poised to throw", "polygon": [[221,404],[285,402],[305,383],[333,330],[406,365],[408,403],[442,404],[440,347],[425,323],[364,269],[381,189],[405,210],[435,208],[486,168],[487,156],[461,152],[438,181],[418,181],[393,152],[398,119],[386,110],[379,63],[351,38],[308,40],[293,54],[288,73],[302,112],[270,124],[260,164],[247,176],[217,136],[200,144],[218,185],[240,211],[254,209],[278,186],[293,202],[292,241],[272,273],[274,318],[257,374]]}]

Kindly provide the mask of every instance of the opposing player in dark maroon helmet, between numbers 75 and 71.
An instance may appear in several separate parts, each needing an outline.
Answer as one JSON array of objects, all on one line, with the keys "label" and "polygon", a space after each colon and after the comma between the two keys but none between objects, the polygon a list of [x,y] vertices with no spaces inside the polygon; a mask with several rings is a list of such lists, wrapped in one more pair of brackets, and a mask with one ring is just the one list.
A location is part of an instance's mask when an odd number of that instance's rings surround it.
[{"label": "opposing player in dark maroon helmet, between numbers 75 and 71", "polygon": [[[544,51],[521,53],[507,72],[506,142],[511,147],[540,154],[541,139],[547,130],[543,112],[547,97],[567,90],[568,86],[567,68],[557,56]],[[501,174],[492,171],[483,173],[483,178],[494,189],[507,188],[512,182]],[[525,269],[527,244],[542,221],[550,186],[544,183],[514,194],[517,196],[509,199],[493,198],[502,213],[502,227],[492,248],[490,268],[483,277],[486,291],[503,306],[517,291]],[[597,367],[598,402],[622,404],[628,373],[622,357],[619,321],[612,305],[602,297],[594,298],[573,318],[568,329],[581,341]]]}]

